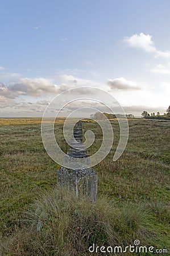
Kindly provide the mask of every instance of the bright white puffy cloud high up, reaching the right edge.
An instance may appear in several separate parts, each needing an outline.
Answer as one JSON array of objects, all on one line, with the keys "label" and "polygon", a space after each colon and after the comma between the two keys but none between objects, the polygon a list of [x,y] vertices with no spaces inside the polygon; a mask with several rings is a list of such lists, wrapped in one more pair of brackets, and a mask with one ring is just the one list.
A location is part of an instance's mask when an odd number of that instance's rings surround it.
[{"label": "bright white puffy cloud high up, reaching the right edge", "polygon": [[140,48],[146,52],[152,52],[155,54],[155,57],[170,57],[169,51],[159,51],[155,48],[154,42],[152,41],[151,35],[145,35],[144,33],[140,33],[132,35],[130,37],[125,37],[123,42],[127,44],[129,47]]}]

